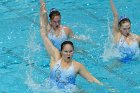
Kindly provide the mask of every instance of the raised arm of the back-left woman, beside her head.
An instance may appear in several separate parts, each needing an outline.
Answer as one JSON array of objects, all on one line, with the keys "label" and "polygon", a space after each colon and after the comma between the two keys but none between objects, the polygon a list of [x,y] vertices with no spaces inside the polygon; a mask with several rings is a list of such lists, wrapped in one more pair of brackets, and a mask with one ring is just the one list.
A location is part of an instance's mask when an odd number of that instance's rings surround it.
[{"label": "raised arm of the back-left woman, beside her head", "polygon": [[44,0],[40,0],[40,20],[41,20],[41,25],[48,32],[50,25],[48,22],[48,15],[47,15],[46,4]]}]

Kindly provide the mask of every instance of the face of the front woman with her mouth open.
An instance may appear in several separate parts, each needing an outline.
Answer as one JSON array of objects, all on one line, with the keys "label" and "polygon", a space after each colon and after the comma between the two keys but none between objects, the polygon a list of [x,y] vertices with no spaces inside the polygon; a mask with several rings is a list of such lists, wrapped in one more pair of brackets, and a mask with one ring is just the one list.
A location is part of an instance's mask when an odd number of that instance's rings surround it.
[{"label": "face of the front woman with her mouth open", "polygon": [[73,56],[73,47],[70,44],[64,45],[61,55],[65,61],[70,61]]}]

